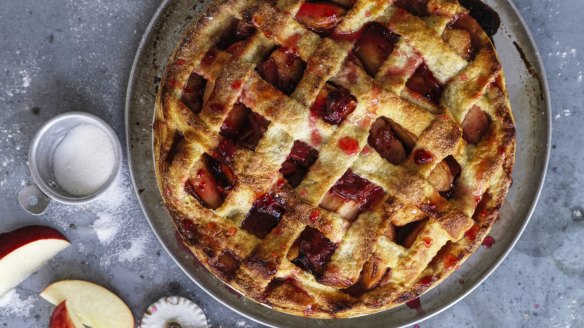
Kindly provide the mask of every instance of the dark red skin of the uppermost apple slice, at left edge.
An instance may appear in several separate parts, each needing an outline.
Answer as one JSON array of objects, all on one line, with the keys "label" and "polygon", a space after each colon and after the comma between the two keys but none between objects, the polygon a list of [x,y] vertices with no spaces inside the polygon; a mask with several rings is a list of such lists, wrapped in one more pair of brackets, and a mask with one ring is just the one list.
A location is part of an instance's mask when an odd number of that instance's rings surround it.
[{"label": "dark red skin of the uppermost apple slice, at left edge", "polygon": [[0,234],[0,259],[28,243],[42,239],[68,241],[59,231],[44,226],[27,226]]}]

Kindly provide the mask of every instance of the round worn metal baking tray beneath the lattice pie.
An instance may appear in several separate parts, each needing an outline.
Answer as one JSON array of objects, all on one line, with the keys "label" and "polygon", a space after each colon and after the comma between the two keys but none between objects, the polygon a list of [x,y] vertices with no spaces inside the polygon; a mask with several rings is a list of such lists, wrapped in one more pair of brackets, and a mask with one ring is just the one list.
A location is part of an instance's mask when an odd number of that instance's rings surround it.
[{"label": "round worn metal baking tray beneath the lattice pie", "polygon": [[[411,325],[460,301],[503,261],[527,225],[539,197],[551,143],[551,108],[545,72],[534,41],[510,1],[485,1],[501,18],[494,41],[507,77],[516,120],[517,157],[513,186],[491,236],[492,248],[481,247],[461,268],[421,296],[423,311],[406,306],[351,319],[318,320],[288,315],[241,297],[197,265],[181,247],[162,203],[152,156],[152,121],[156,88],[166,61],[205,2],[166,0],[152,18],[138,48],[126,95],[128,161],[134,188],[154,233],[179,267],[203,290],[233,311],[274,327],[390,327]],[[463,279],[464,284],[459,283]]]}]

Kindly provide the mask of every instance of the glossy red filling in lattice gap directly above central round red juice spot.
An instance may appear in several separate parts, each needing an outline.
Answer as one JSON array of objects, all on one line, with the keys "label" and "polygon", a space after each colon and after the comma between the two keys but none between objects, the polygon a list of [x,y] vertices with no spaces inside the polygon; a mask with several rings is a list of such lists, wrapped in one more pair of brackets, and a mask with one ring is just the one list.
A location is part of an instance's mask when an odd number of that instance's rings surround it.
[{"label": "glossy red filling in lattice gap directly above central round red juice spot", "polygon": [[340,124],[355,110],[355,107],[357,107],[357,99],[349,90],[327,83],[320,89],[310,111],[329,124]]}]

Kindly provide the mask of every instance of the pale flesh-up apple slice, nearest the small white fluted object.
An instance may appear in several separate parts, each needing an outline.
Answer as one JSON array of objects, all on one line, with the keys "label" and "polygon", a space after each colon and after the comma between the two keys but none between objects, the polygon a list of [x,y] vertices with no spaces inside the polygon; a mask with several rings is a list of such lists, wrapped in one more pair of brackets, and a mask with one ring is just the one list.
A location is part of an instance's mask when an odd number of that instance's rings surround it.
[{"label": "pale flesh-up apple slice, nearest the small white fluted object", "polygon": [[55,305],[66,300],[81,322],[92,328],[134,327],[134,317],[128,306],[114,293],[91,282],[55,282],[43,290],[41,297]]}]

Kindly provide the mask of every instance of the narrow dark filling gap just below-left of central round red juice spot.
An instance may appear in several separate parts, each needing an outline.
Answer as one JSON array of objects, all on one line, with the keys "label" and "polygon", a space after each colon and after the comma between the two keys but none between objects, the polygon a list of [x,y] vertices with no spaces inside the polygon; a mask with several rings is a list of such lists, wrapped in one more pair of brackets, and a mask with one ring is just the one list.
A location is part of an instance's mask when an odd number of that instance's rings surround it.
[{"label": "narrow dark filling gap just below-left of central round red juice spot", "polygon": [[308,169],[318,158],[318,151],[302,141],[294,141],[294,146],[282,163],[280,173],[288,180],[292,187],[300,184]]}]

